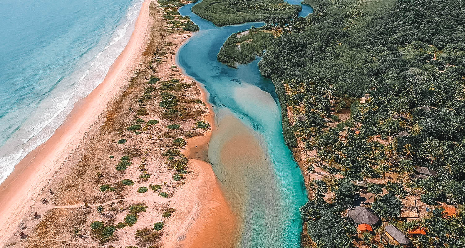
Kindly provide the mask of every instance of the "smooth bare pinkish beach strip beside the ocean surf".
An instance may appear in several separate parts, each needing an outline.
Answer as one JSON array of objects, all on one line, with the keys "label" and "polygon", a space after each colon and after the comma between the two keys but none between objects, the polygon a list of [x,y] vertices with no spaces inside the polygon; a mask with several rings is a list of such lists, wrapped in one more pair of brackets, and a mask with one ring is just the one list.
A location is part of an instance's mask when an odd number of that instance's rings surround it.
[{"label": "smooth bare pinkish beach strip beside the ocean surf", "polygon": [[18,229],[20,220],[35,204],[46,183],[131,76],[132,68],[137,66],[136,60],[144,48],[144,42],[140,41],[147,34],[150,2],[151,0],[143,2],[133,34],[109,68],[105,79],[90,94],[77,101],[52,137],[27,154],[0,184],[0,228],[4,230],[0,235],[0,243],[5,243]]}]

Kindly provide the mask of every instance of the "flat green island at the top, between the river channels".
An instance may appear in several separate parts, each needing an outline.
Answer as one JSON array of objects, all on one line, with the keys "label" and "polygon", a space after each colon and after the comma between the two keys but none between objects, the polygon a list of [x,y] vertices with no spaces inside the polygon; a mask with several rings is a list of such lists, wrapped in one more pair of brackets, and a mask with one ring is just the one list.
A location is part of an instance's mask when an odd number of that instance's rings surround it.
[{"label": "flat green island at the top, between the river channels", "polygon": [[221,27],[275,17],[291,19],[301,9],[283,0],[202,0],[192,7],[192,12]]}]

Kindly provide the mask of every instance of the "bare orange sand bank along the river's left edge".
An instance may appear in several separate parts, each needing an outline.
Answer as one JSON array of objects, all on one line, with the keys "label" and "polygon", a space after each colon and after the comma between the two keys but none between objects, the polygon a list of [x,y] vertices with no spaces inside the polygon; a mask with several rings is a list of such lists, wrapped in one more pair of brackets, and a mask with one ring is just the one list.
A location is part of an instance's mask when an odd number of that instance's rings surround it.
[{"label": "bare orange sand bank along the river's left edge", "polygon": [[[196,34],[191,32],[191,37],[180,43],[175,48],[175,53],[177,54],[179,49],[194,35]],[[189,167],[195,168],[195,175],[193,177],[197,181],[187,182],[186,184],[189,184],[189,188],[187,190],[184,189],[186,190],[185,192],[179,192],[181,194],[178,194],[178,196],[183,198],[186,203],[183,207],[187,209],[183,211],[182,216],[180,216],[181,218],[173,218],[167,222],[167,226],[171,228],[166,229],[168,237],[164,240],[166,242],[164,242],[163,247],[208,248],[217,247],[221,244],[224,248],[233,248],[238,240],[235,236],[236,233],[232,230],[234,228],[237,230],[238,220],[226,201],[218,178],[208,161],[208,146],[216,126],[213,106],[208,101],[210,94],[203,84],[186,74],[184,68],[179,65],[176,54],[172,55],[171,61],[181,70],[181,74],[184,77],[195,82],[200,92],[200,99],[206,104],[209,110],[202,118],[210,124],[210,129],[201,136],[188,139],[186,149],[182,150],[182,153],[189,158]],[[186,200],[186,197],[188,200]],[[179,201],[174,202],[175,204],[179,204]],[[187,216],[188,218],[186,218]],[[214,237],[222,237],[222,239],[215,240]]]}]

